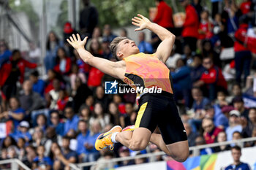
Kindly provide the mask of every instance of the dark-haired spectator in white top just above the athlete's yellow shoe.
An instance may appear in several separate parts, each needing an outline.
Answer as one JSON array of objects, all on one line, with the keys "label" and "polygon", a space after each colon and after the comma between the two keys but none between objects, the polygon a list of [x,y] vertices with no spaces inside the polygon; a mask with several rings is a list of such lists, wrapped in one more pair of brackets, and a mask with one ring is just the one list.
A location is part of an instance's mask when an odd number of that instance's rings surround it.
[{"label": "dark-haired spectator in white top just above the athlete's yellow shoe", "polygon": [[110,123],[110,116],[103,112],[103,106],[99,102],[94,105],[94,112],[89,121],[89,124],[91,125],[96,120],[99,121],[102,127],[105,127],[105,125]]}]

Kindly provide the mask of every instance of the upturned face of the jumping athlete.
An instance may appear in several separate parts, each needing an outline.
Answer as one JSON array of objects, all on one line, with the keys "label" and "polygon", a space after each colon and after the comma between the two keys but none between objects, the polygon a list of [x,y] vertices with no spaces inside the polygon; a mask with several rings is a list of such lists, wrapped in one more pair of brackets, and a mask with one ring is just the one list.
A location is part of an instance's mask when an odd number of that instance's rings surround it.
[{"label": "upturned face of the jumping athlete", "polygon": [[131,39],[124,39],[118,44],[117,56],[118,58],[126,58],[129,55],[140,53],[139,48]]}]

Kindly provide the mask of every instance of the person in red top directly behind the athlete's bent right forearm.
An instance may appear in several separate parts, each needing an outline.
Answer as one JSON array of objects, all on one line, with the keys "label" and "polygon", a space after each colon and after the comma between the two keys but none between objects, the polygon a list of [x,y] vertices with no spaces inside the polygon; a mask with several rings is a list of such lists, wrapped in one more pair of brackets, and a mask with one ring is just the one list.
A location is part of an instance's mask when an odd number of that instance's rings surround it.
[{"label": "person in red top directly behind the athlete's bent right forearm", "polygon": [[173,9],[163,0],[156,0],[157,15],[153,22],[171,31],[173,26]]}]

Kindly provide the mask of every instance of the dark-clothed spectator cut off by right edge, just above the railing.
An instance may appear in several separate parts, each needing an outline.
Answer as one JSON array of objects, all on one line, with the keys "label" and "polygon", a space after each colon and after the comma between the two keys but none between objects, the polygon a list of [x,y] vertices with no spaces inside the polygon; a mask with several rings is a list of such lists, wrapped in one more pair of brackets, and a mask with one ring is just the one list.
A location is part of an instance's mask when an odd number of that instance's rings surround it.
[{"label": "dark-clothed spectator cut off by right edge, just above the railing", "polygon": [[256,108],[252,107],[249,109],[249,121],[245,128],[243,128],[242,134],[244,138],[252,136],[252,130],[256,127]]}]

